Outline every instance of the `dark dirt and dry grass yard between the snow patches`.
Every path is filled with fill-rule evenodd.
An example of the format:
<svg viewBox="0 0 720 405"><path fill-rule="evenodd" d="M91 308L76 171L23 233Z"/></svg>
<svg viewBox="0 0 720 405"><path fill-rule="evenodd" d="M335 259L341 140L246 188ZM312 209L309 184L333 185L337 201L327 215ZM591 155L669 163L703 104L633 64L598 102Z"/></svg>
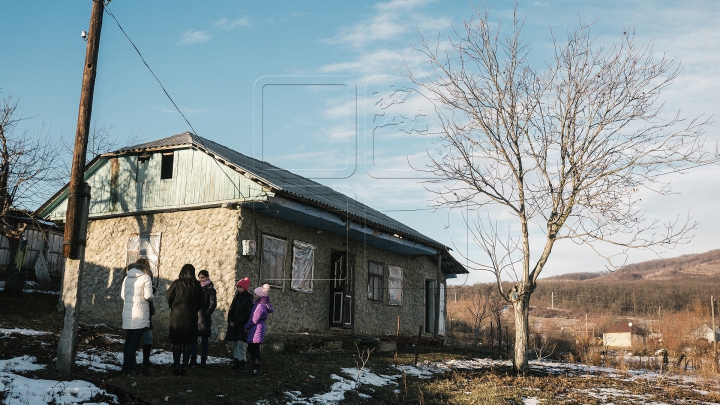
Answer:
<svg viewBox="0 0 720 405"><path fill-rule="evenodd" d="M26 293L10 298L0 293L0 328L34 329L52 334L4 337L0 339L0 359L21 355L37 357L48 364L45 370L24 373L29 378L53 380L79 379L92 382L121 404L286 404L328 403L312 400L315 394L330 392L337 382L334 375L342 368L357 368L354 350L310 350L291 353L263 352L263 374L251 377L229 369L228 364L191 368L186 376L173 376L171 366L138 366L133 374L119 371L97 372L77 367L72 375L61 375L52 367L62 315L55 309L57 295ZM123 331L103 325L81 325L79 352L122 352ZM165 336L155 336L154 348L170 350ZM397 362L412 365L415 348L401 346ZM211 344L210 355L230 358L223 342ZM422 347L420 362L472 360L487 357L467 349ZM394 353L373 352L365 367L377 375L398 374L392 366ZM493 364L490 361L490 364ZM497 363L495 363L497 364ZM515 375L509 366L485 368L456 367L429 379L406 376L397 384L361 385L345 393L340 404L712 404L720 403L717 386L712 383L674 383L672 379L633 380L625 376L557 374L534 369ZM288 392L303 401L293 402ZM96 398L100 401L103 398ZM534 401L534 402L533 402ZM0 402L1 398L0 398Z"/></svg>

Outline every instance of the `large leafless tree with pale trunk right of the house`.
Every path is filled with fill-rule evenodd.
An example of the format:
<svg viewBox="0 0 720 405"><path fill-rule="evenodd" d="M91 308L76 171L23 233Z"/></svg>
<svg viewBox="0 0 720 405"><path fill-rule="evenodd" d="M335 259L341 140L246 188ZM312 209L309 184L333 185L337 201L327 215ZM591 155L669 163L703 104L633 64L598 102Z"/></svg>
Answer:
<svg viewBox="0 0 720 405"><path fill-rule="evenodd" d="M671 193L663 175L717 160L703 148L706 119L662 114L661 93L680 69L652 44L625 31L619 44L601 46L581 22L553 41L554 57L540 71L517 11L511 22L504 35L479 10L445 49L423 38L416 49L432 72L407 75L434 102L440 126L442 150L429 152L427 168L437 180L427 187L438 207L476 214L466 221L486 257L472 262L494 273L513 305L514 365L524 371L530 297L555 242L596 251L600 242L620 250L687 242L695 224L647 219L638 191ZM512 220L501 226L480 214L487 204ZM509 289L501 283L508 277Z"/></svg>

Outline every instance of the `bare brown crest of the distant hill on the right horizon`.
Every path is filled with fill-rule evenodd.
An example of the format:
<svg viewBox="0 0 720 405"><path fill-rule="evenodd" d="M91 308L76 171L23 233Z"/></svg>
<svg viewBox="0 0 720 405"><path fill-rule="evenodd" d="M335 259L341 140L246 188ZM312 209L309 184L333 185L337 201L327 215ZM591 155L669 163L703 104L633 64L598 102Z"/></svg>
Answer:
<svg viewBox="0 0 720 405"><path fill-rule="evenodd" d="M609 272L579 272L546 277L549 281L633 281L633 280L673 280L688 278L702 279L720 276L720 249L705 253L696 253L669 259L649 260L628 264Z"/></svg>

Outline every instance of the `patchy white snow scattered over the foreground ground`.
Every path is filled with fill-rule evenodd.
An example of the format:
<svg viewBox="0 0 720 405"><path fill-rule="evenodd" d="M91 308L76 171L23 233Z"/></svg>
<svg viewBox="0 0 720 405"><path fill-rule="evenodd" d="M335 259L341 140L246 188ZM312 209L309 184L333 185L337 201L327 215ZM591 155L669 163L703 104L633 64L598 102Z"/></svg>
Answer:
<svg viewBox="0 0 720 405"><path fill-rule="evenodd" d="M0 288L2 286L0 285ZM28 291L28 290L26 290ZM21 328L0 328L0 340L22 339L23 336L50 335L50 332ZM102 339L117 347L123 339L116 334L103 334ZM42 343L47 344L47 343ZM7 355L7 354L6 354ZM54 404L117 404L118 398L106 392L101 387L82 380L58 381L31 378L33 371L42 370L51 365L38 364L35 357L23 353L13 353L13 358L0 360L0 393L4 396L4 403L8 405L40 405ZM5 357L5 356L3 356ZM122 353L109 350L88 349L77 354L77 365L87 370L102 374L109 371L119 371L122 365ZM142 361L142 353L137 353L138 362ZM155 349L151 361L154 364L172 364L172 353ZM227 364L227 358L209 357L209 364ZM348 392L353 392L361 398L372 400L375 388L391 387L401 394L404 376L417 379L429 379L448 372L463 371L492 371L511 367L509 361L491 359L445 360L420 364L416 367L399 365L396 368L373 370L365 367L360 370L354 367L340 368L330 378L334 381L327 392L303 394L300 391L288 390L284 392L286 403L297 405L331 405L345 399ZM711 398L718 398L717 381L707 381L698 376L667 375L648 370L617 370L608 367L585 366L574 363L554 361L531 362L531 369L543 374L570 376L581 380L593 380L598 377L612 379L623 384L586 385L572 387L576 395L603 404L656 404L663 405L675 402L658 401L652 395L632 391L629 385L645 384L652 387L671 386L673 389L682 389L690 392L695 399L683 400L687 404L713 404ZM319 378L326 376L312 376ZM576 380L577 381L577 380ZM627 384L630 383L630 384ZM581 384L582 385L582 384ZM526 405L545 403L537 388L520 387L523 395L522 401ZM0 396L0 398L2 398ZM547 396L545 396L547 397ZM554 397L562 401L564 398ZM707 398L707 400L703 400ZM258 405L269 404L269 401L259 401Z"/></svg>

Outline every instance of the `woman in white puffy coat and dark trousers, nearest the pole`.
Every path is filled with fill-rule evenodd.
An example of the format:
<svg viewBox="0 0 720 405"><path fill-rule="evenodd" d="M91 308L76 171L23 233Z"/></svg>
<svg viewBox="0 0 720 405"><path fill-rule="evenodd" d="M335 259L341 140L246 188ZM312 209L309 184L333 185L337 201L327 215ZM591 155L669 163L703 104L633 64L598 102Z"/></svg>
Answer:
<svg viewBox="0 0 720 405"><path fill-rule="evenodd" d="M152 280L147 266L133 263L127 267L127 276L123 280L120 296L123 299L123 329L125 329L125 349L123 351L123 371L135 369L135 350L137 350L143 331L150 327L150 301L153 300Z"/></svg>

